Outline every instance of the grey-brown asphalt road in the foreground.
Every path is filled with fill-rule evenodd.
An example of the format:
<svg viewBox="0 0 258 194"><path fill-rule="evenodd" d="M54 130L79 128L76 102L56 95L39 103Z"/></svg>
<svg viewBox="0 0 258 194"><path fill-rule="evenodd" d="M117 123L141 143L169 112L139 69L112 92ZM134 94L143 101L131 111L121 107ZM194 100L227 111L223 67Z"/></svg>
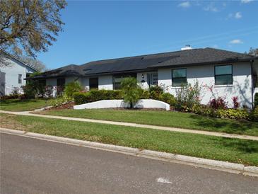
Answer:
<svg viewBox="0 0 258 194"><path fill-rule="evenodd" d="M258 178L1 133L0 193L258 193Z"/></svg>

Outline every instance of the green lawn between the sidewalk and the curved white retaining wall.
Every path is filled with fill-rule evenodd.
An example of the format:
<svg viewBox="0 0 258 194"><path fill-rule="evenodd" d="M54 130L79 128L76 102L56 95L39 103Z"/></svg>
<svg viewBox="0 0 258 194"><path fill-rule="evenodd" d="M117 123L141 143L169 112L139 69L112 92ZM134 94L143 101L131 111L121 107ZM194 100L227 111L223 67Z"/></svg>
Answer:
<svg viewBox="0 0 258 194"><path fill-rule="evenodd" d="M61 115L74 118L91 118L135 122L147 125L180 127L192 130L227 132L258 136L258 122L238 121L221 118L209 118L194 113L179 113L158 110L45 110L41 114Z"/></svg>

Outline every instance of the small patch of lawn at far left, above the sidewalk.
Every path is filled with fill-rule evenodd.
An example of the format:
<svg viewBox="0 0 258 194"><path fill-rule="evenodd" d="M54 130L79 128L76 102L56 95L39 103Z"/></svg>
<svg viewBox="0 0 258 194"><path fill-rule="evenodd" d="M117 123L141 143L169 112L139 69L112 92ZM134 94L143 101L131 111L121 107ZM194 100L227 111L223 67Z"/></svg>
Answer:
<svg viewBox="0 0 258 194"><path fill-rule="evenodd" d="M35 110L49 105L44 99L9 99L0 101L0 110L25 111Z"/></svg>

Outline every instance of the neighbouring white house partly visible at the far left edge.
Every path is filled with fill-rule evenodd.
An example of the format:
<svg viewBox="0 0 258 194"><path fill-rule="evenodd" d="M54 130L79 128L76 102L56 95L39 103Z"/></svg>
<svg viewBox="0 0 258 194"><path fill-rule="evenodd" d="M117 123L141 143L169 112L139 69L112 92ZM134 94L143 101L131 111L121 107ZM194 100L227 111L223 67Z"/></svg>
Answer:
<svg viewBox="0 0 258 194"><path fill-rule="evenodd" d="M25 78L34 72L37 72L37 69L1 50L0 96L10 95L13 90L21 93L20 87L26 84Z"/></svg>

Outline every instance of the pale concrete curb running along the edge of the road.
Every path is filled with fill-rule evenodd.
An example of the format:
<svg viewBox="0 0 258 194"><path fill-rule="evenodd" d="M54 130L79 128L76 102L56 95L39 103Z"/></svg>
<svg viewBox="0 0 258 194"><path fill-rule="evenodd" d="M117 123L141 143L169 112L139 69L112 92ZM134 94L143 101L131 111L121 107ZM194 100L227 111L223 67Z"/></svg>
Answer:
<svg viewBox="0 0 258 194"><path fill-rule="evenodd" d="M191 166L202 167L206 169L215 169L218 171L226 171L229 173L238 173L248 176L258 177L258 167L257 166L244 166L242 164L235 164L226 161L216 161L211 159L201 159L192 156L184 156L180 154L170 154L165 152L156 152L148 149L137 149L131 147L122 147L112 144L102 144L98 142L89 142L78 139L71 139L66 137L57 137L52 135L43 135L34 132L24 132L20 130L10 130L0 127L0 132L20 135L23 137L30 137L36 139L44 139L52 142L59 142L64 144L73 144L76 146L90 147L93 149L102 149L109 152L118 152L122 154L129 154L133 156L141 156L148 159L156 159L161 161L168 161L177 164L187 164Z"/></svg>

